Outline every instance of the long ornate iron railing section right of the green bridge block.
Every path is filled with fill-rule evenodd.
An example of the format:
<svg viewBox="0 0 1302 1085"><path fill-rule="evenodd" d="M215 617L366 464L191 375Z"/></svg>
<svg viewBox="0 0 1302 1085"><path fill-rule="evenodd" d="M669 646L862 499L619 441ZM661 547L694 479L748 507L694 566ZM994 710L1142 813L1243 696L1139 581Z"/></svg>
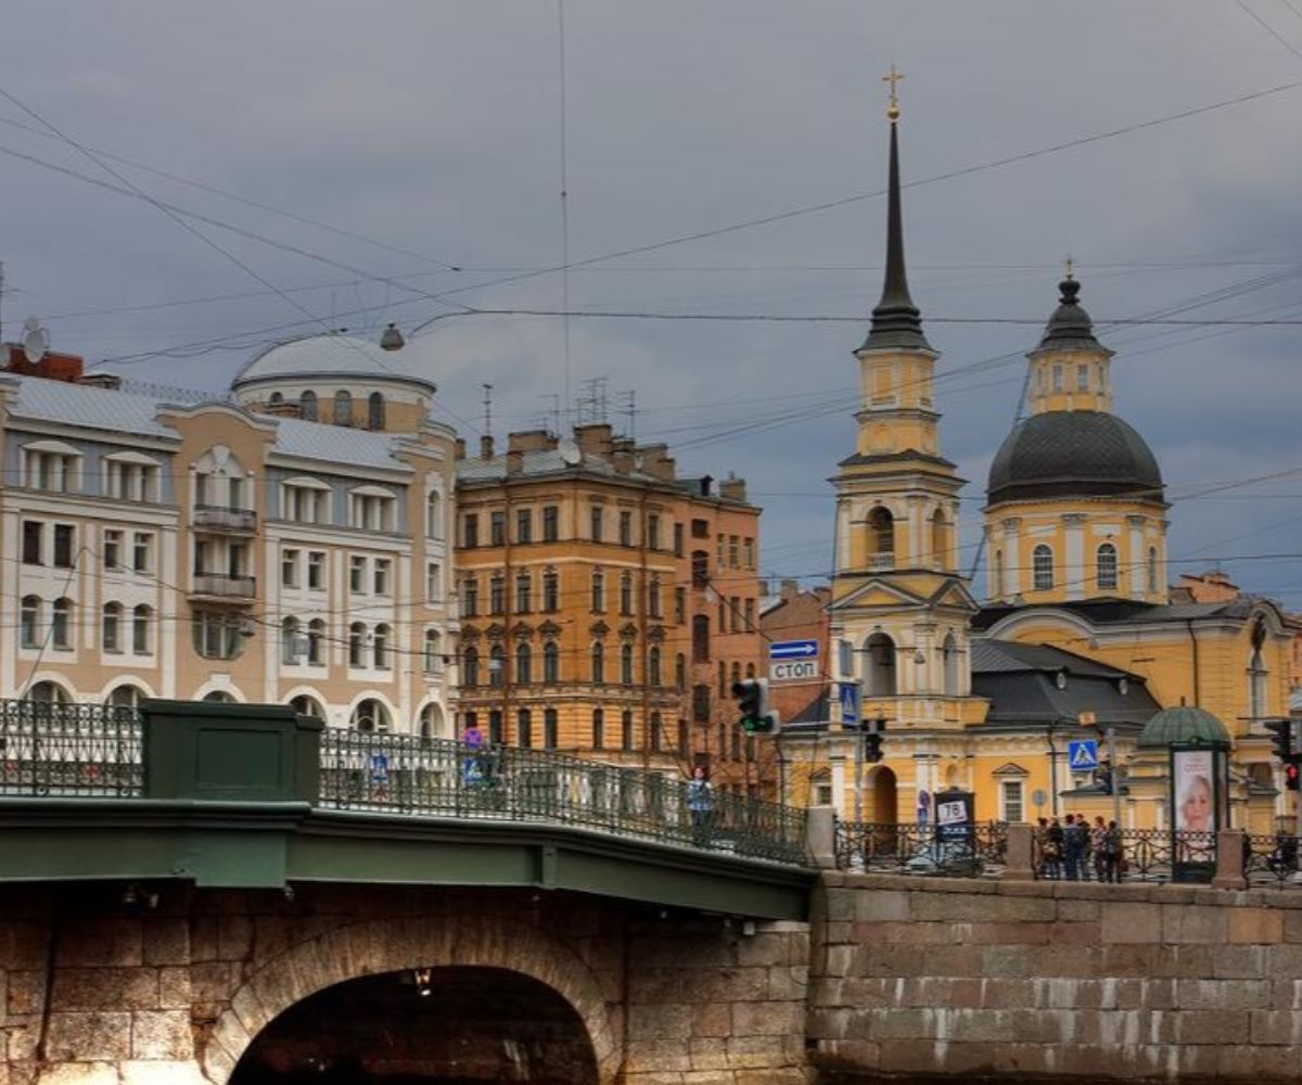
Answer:
<svg viewBox="0 0 1302 1085"><path fill-rule="evenodd" d="M682 780L518 746L327 728L320 801L345 810L549 822L805 862L801 809L715 792L708 810L693 810Z"/></svg>

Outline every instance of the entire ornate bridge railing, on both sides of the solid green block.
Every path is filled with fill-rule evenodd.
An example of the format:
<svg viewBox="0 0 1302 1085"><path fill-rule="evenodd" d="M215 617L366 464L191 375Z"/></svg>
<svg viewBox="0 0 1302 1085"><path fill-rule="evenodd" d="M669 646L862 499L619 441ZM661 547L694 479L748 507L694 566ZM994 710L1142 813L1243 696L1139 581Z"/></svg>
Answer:
<svg viewBox="0 0 1302 1085"><path fill-rule="evenodd" d="M151 714L152 732L145 720ZM202 791L202 766L194 766L199 745L187 748L178 728L193 723L198 733L216 724L202 746L203 755L211 758L214 739L236 741L217 716L249 723L241 715L255 714L266 722L254 722L253 729L292 735L286 737L290 746L319 744L319 778L309 793L293 795L316 808L572 826L720 854L806 861L806 814L797 808L716 792L710 810L694 813L686 782L661 774L517 746L477 748L339 728L296 732L290 710L267 706L160 701L135 711L0 701L0 796L172 797L176 772L167 782L151 783L146 771L146 765L167 765L169 759L173 766L186 766L185 772L198 774L182 788ZM159 755L151 755L151 749ZM228 750L216 761L228 772L232 759L240 763L241 755ZM307 755L318 757L315 752ZM229 797L232 782L227 778L224 787L223 795Z"/></svg>

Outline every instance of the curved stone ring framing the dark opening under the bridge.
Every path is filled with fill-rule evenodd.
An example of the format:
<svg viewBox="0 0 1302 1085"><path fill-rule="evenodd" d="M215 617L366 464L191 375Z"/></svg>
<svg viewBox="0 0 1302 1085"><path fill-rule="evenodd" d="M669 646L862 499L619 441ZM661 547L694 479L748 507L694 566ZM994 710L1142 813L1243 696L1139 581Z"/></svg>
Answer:
<svg viewBox="0 0 1302 1085"><path fill-rule="evenodd" d="M551 935L491 916L372 920L297 943L267 960L234 993L199 1051L199 1065L214 1085L227 1085L254 1038L296 1003L349 979L443 966L500 968L551 987L583 1021L602 1085L615 1080L621 1051L592 970Z"/></svg>

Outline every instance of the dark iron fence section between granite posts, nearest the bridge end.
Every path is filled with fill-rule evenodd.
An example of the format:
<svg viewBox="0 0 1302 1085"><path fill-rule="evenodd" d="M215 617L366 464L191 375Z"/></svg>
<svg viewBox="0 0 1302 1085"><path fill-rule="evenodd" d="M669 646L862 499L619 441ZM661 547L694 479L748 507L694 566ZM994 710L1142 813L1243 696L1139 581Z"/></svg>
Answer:
<svg viewBox="0 0 1302 1085"><path fill-rule="evenodd" d="M1008 826L988 822L969 836L936 832L930 823L836 822L841 870L973 877L1004 865Z"/></svg>

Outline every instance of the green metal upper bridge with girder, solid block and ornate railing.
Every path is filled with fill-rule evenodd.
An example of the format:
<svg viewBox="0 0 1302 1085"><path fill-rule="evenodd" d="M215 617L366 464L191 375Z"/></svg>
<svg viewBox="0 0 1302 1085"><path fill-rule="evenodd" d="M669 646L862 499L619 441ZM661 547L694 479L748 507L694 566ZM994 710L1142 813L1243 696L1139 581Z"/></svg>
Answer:
<svg viewBox="0 0 1302 1085"><path fill-rule="evenodd" d="M797 920L803 810L272 705L0 703L0 881L534 887Z"/></svg>

